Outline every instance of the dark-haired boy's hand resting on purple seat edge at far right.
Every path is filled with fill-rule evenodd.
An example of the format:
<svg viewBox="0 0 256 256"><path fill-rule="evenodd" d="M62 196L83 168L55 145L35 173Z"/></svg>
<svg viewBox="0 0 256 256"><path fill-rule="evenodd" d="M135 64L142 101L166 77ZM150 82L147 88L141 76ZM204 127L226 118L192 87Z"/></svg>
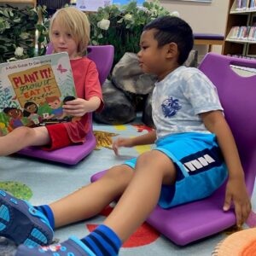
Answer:
<svg viewBox="0 0 256 256"><path fill-rule="evenodd" d="M243 179L230 178L228 180L223 208L224 211L230 210L232 202L236 212L236 224L238 227L241 227L241 224L247 220L252 209L251 201Z"/></svg>

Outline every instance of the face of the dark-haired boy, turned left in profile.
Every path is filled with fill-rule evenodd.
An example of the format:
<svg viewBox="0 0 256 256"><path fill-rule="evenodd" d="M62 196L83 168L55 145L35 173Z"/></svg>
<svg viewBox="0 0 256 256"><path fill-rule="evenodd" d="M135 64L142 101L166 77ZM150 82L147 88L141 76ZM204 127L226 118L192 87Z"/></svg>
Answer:
<svg viewBox="0 0 256 256"><path fill-rule="evenodd" d="M158 79L163 79L166 73L170 72L170 67L172 69L168 63L171 56L170 45L158 47L158 42L154 39L154 32L154 29L150 29L142 33L141 50L137 56L144 73L152 73L157 75Z"/></svg>

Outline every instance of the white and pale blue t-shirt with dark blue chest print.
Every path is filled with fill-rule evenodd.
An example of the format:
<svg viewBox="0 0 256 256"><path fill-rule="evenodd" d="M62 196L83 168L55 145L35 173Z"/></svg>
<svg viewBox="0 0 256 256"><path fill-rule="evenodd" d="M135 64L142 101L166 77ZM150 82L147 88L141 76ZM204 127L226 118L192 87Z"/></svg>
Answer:
<svg viewBox="0 0 256 256"><path fill-rule="evenodd" d="M152 116L157 137L173 133L209 132L199 113L223 110L216 87L195 67L178 67L155 83Z"/></svg>

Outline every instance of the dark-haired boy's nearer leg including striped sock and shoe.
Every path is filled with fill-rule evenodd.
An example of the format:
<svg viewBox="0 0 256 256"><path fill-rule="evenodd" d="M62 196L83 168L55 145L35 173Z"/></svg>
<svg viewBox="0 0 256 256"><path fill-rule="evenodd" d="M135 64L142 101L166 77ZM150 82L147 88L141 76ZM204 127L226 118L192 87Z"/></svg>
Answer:
<svg viewBox="0 0 256 256"><path fill-rule="evenodd" d="M61 250L64 250L64 248L68 248L69 253L75 253L79 256L117 255L121 243L127 240L137 230L139 225L143 223L149 213L154 209L160 197L162 183L172 184L175 182L175 178L175 166L166 154L156 150L143 154L137 160L137 166L135 173L132 175L131 182L120 197L113 212L106 218L104 224L98 226L96 230L82 240L71 237L56 247L38 247L32 249L20 246L16 256L39 256L43 250L45 256L54 255L53 252L56 249L60 255L66 255L65 253L61 253ZM88 193L89 190L87 190L86 194Z"/></svg>

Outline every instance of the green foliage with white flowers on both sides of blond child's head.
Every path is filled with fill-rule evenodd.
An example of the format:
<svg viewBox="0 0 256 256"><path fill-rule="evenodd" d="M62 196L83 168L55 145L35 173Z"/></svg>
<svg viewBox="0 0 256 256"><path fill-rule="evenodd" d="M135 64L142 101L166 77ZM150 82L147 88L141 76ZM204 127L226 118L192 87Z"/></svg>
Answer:
<svg viewBox="0 0 256 256"><path fill-rule="evenodd" d="M90 44L112 44L115 49L113 65L125 52L137 53L140 36L150 20L162 15L172 15L160 6L159 1L143 3L138 7L133 1L123 6L110 5L90 13ZM42 21L38 24L39 16ZM38 30L38 45L35 32ZM0 62L44 55L49 42L49 17L46 8L17 9L0 7ZM20 55L20 48L23 53ZM16 55L15 55L16 51Z"/></svg>

